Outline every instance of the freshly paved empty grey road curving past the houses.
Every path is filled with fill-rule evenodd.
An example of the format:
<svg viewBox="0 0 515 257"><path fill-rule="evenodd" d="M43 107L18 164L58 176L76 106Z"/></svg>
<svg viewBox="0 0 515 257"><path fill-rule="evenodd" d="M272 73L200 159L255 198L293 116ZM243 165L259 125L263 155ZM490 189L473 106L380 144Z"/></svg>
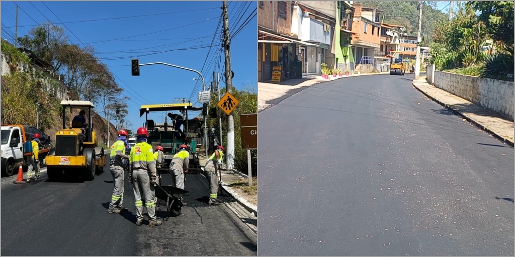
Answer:
<svg viewBox="0 0 515 257"><path fill-rule="evenodd" d="M413 78L317 84L260 113L259 255L513 256L513 149Z"/></svg>

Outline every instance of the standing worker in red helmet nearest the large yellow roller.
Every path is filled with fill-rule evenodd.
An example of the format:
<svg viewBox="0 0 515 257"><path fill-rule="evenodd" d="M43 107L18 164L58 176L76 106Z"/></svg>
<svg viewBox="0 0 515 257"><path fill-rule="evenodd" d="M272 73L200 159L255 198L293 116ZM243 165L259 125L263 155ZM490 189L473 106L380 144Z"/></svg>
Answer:
<svg viewBox="0 0 515 257"><path fill-rule="evenodd" d="M126 152L126 147L129 145L129 142L127 141L128 137L129 135L127 134L127 131L118 131L118 138L116 139L116 142L111 145L110 170L111 175L113 175L114 190L113 195L111 196L109 210L107 211L108 213L127 211L126 208L123 208L122 204L124 200L124 159L129 159Z"/></svg>

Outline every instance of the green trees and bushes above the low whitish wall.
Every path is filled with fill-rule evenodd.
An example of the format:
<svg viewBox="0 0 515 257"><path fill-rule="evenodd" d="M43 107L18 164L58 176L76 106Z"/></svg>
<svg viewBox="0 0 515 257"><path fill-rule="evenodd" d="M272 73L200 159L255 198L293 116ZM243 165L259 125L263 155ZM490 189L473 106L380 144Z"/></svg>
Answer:
<svg viewBox="0 0 515 257"><path fill-rule="evenodd" d="M454 19L437 23L433 40L436 69L513 81L513 2L458 4ZM483 50L487 40L494 53Z"/></svg>

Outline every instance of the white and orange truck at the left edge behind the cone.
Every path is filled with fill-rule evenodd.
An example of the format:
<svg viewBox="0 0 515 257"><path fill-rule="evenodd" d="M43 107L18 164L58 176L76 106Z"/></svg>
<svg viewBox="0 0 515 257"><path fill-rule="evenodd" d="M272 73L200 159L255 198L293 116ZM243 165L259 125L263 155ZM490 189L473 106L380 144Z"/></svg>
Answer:
<svg viewBox="0 0 515 257"><path fill-rule="evenodd" d="M26 132L26 127L31 126L2 124L2 135L0 136L2 138L2 176L12 176L18 171L20 164L24 171L28 168L27 160L31 157L32 152L26 153L27 149L24 144L30 143L34 134ZM41 135L44 134L41 133ZM38 154L40 163L43 163L45 156L51 150L52 145L49 144L49 140L40 141Z"/></svg>

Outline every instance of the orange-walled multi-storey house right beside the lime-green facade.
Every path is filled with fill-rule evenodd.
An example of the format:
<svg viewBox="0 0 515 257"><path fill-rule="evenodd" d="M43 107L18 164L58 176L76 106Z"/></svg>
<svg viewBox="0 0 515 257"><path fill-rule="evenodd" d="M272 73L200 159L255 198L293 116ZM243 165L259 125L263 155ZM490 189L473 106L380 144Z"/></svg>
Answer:
<svg viewBox="0 0 515 257"><path fill-rule="evenodd" d="M362 73L374 72L374 50L381 47L381 24L379 17L384 11L354 4L351 45L356 69Z"/></svg>

